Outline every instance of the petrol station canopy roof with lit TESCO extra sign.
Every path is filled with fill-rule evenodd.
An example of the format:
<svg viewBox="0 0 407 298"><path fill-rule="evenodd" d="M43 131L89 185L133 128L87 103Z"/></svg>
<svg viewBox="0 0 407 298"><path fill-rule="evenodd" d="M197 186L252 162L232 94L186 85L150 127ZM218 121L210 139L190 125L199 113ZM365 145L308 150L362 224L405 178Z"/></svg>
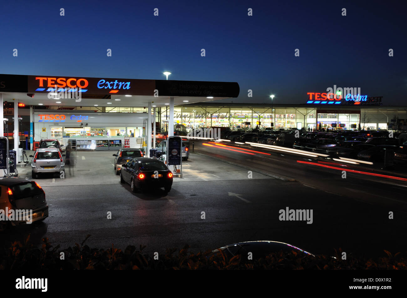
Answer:
<svg viewBox="0 0 407 298"><path fill-rule="evenodd" d="M61 92L68 87L81 88L81 101L49 98L50 92ZM189 104L235 98L239 91L239 84L234 82L0 74L3 100L14 98L34 106L39 103L45 106L107 106L109 100L120 99L114 101L115 107L147 107L149 102L165 107L169 98L174 98L174 105Z"/></svg>

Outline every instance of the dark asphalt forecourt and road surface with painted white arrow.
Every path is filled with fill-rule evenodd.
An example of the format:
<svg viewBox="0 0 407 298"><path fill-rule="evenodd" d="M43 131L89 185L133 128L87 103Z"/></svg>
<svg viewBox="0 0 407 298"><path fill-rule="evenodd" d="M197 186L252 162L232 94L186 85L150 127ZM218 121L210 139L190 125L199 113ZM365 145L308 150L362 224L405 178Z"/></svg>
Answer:
<svg viewBox="0 0 407 298"><path fill-rule="evenodd" d="M221 150L197 151L225 155ZM406 251L403 182L354 173L341 178L338 170L278 154L273 163L257 164L245 162L247 154L228 152L241 166L204 154L190 155L183 163L184 178L174 179L167 195L162 189L133 194L129 185L120 184L112 152L78 152L76 166L66 170L65 179L36 180L46 192L50 217L13 227L1 241L22 241L31 233L34 244L48 237L66 248L90 234L86 244L91 247L143 244L147 253L185 244L197 252L251 240L283 241L314 254L333 254L334 248L371 257L382 256L384 249ZM295 176L295 181L273 178L284 168L284 177ZM29 167L19 172L31 176ZM287 207L312 210L312 223L280 220L280 210ZM112 219L107 219L108 212Z"/></svg>

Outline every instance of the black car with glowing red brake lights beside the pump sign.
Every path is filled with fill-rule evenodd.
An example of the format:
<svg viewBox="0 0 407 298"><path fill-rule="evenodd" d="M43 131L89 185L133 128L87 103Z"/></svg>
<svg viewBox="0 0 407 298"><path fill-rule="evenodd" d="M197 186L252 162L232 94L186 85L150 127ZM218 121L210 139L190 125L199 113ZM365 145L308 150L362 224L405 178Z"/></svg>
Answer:
<svg viewBox="0 0 407 298"><path fill-rule="evenodd" d="M155 157L140 157L130 159L120 170L120 182L129 183L131 191L137 189L157 189L164 187L171 190L173 173Z"/></svg>

